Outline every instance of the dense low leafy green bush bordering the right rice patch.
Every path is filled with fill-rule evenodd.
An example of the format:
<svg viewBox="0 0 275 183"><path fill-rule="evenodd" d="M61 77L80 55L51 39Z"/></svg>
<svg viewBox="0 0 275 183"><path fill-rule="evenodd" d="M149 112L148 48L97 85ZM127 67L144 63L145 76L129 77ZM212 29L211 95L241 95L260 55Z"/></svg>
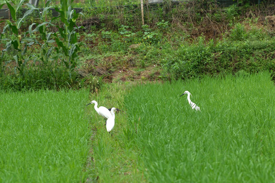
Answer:
<svg viewBox="0 0 275 183"><path fill-rule="evenodd" d="M274 40L265 42L217 42L183 45L161 65L172 79L187 79L219 73L275 72ZM265 56L263 56L263 53Z"/></svg>

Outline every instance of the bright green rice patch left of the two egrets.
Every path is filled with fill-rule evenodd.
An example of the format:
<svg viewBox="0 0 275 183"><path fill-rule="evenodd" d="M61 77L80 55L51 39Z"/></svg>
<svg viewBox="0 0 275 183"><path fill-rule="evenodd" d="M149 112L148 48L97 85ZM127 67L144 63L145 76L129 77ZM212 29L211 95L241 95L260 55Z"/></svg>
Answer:
<svg viewBox="0 0 275 183"><path fill-rule="evenodd" d="M0 91L0 182L83 182L89 93Z"/></svg>

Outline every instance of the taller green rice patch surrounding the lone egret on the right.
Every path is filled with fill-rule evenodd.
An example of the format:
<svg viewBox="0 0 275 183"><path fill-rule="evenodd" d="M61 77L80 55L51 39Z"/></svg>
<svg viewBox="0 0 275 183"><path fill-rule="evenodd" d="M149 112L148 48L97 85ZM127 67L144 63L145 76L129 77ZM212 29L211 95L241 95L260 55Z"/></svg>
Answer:
<svg viewBox="0 0 275 183"><path fill-rule="evenodd" d="M201 112L179 97L185 90ZM124 102L124 138L140 151L149 182L275 181L269 73L148 83Z"/></svg>

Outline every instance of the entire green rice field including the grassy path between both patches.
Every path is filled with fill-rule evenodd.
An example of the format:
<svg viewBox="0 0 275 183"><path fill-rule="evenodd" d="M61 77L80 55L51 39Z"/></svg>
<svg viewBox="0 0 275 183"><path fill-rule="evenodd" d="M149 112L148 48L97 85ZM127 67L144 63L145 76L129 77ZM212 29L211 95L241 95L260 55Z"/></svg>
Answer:
<svg viewBox="0 0 275 183"><path fill-rule="evenodd" d="M201 108L193 111L186 96ZM1 92L0 182L274 182L269 73ZM117 107L116 124L86 104Z"/></svg>

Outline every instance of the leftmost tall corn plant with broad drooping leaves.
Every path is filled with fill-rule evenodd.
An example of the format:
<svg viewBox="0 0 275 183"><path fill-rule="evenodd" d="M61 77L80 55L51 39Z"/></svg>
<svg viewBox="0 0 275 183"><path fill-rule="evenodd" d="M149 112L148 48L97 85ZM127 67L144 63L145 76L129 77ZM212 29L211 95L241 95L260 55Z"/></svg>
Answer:
<svg viewBox="0 0 275 183"><path fill-rule="evenodd" d="M13 21L7 21L7 25L3 28L3 32L1 33L1 36L0 36L0 40L6 42L6 48L2 52L2 56L5 51L9 51L12 47L14 48L15 54L13 55L13 59L16 62L16 68L19 70L21 76L24 73L23 70L26 62L30 59L30 56L29 57L25 56L26 50L29 46L35 43L32 38L26 35L21 35L19 33L19 29L22 25L22 22L26 19L26 17L28 17L34 11L32 9L28 10L24 13L23 17L18 18L16 14L19 13L23 2L24 0L21 0L19 3L16 3L15 1L12 0L12 3L14 4L14 6L12 6L10 3L6 1L6 4L10 10ZM2 39L7 29L11 29L11 32L13 33L14 36L10 38Z"/></svg>

